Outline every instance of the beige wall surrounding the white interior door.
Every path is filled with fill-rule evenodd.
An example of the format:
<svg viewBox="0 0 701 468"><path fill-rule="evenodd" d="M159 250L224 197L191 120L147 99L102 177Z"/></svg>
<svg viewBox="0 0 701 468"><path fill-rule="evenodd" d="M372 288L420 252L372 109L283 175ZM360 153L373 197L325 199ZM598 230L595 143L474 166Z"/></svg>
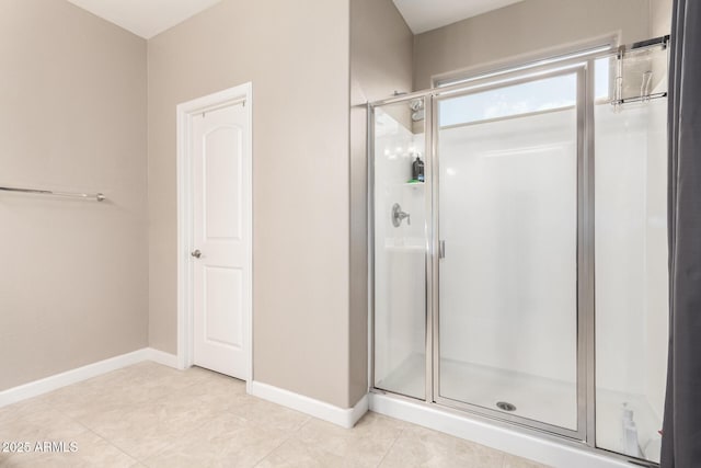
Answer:
<svg viewBox="0 0 701 468"><path fill-rule="evenodd" d="M223 0L148 55L151 345L176 351L175 106L252 81L254 379L348 407L348 1Z"/></svg>

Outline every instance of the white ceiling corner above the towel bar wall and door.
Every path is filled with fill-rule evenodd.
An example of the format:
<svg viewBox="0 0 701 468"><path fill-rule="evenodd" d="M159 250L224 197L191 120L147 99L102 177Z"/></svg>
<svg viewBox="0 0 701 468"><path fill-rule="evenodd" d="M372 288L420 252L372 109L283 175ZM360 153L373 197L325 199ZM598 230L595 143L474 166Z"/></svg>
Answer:
<svg viewBox="0 0 701 468"><path fill-rule="evenodd" d="M68 0L146 39L220 0Z"/></svg>

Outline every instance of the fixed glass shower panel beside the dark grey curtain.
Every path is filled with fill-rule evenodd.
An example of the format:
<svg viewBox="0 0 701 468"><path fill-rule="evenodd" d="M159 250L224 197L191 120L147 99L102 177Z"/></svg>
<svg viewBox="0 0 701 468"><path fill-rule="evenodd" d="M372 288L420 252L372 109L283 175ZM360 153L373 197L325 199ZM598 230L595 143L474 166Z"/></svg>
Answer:
<svg viewBox="0 0 701 468"><path fill-rule="evenodd" d="M597 105L596 442L659 460L667 368L667 105Z"/></svg>

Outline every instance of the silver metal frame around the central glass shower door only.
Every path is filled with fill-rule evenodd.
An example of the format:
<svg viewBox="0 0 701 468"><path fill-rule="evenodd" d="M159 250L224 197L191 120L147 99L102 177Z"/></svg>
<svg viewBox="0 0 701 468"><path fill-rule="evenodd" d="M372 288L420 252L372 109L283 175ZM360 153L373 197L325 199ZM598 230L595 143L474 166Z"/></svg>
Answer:
<svg viewBox="0 0 701 468"><path fill-rule="evenodd" d="M560 436L577 440L585 442L587 441L587 430L589 427L589 414L588 414L588 381L589 378L589 362L593 361L593 356L589 355L588 342L589 339L589 327L588 323L591 321L594 317L594 294L593 294L593 275L590 275L589 265L594 259L594 250L590 249L588 242L588 231L589 231L589 220L591 218L591 214L589 210L593 209L593 204L588 203L588 195L593 187L593 180L588 176L593 171L589 170L589 165L593 161L590 158L591 146L589 144L588 134L590 133L590 128L587 125L588 121L588 83L590 83L590 79L587 79L587 67L588 64L585 61L579 61L578 64L574 64L571 66L560 66L560 67L550 67L551 69L544 69L540 72L530 72L526 73L516 73L514 76L503 78L497 80L497 82L486 83L482 85L468 85L463 87L461 90L455 90L452 88L444 91L443 89L436 90L435 93L432 94L430 105L427 107L432 109L432 121L430 121L430 159L427 161L427 167L430 167L430 173L427 174L426 181L430 184L427 186L427 193L430 193L430 204L432 204L432 246L427 250L427 278L429 278L429 286L427 290L430 294L427 297L430 299L427 301L427 317L430 321L430 327L427 328L430 330L430 333L427 333L430 340L427 340L427 356L432 356L430 366L427 366L427 376L426 381L433 381L433 388L430 392L427 395L433 395L433 402L438 403L440 406L455 408L458 410L475 413L482 416L496 419L506 421L512 424L517 424L520 426L535 429L538 431L543 431L547 433L556 434ZM552 68L555 68L554 70ZM449 399L440 396L440 349L439 349L439 321L440 321L440 304L439 304L439 290L440 290L440 278L439 278L439 255L436 254L439 249L440 242L440 231L439 231L439 153L438 153L438 135L440 128L438 126L438 103L444 100L466 96L471 94L481 93L484 91L490 91L499 88L513 87L525 84L547 78L555 78L562 76L575 75L576 76L576 158L577 158L577 214L576 214L576 232L577 232L577 301L576 301L576 388L577 388L577 429L570 430L566 427L560 427L553 424L544 423L541 421L527 419L524 416L518 416L515 414L508 414L503 411L492 410L490 408L484 408L481 406L472 404L469 402L462 402L453 399ZM430 353L428 351L430 350ZM428 376L430 375L430 378Z"/></svg>

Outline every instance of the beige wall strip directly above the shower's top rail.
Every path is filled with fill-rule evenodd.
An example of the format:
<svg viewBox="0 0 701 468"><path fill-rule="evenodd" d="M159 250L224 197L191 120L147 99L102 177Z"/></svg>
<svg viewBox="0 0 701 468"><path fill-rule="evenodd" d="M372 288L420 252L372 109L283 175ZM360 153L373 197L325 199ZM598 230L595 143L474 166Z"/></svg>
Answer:
<svg viewBox="0 0 701 468"><path fill-rule="evenodd" d="M414 39L414 90L433 76L532 56L610 34L621 43L650 38L650 1L526 0L418 34Z"/></svg>

